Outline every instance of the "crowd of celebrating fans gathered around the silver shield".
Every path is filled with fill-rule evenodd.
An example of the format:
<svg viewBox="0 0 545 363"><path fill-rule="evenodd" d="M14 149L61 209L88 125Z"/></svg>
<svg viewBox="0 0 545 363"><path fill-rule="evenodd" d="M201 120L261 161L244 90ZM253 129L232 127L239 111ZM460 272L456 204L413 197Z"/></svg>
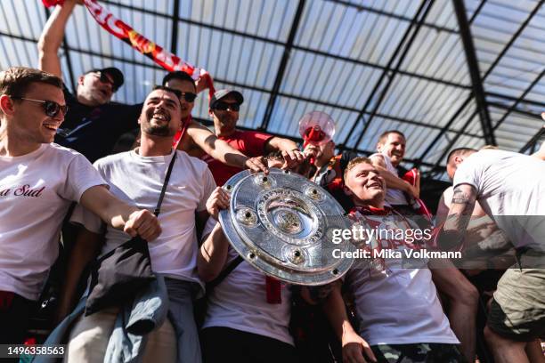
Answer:
<svg viewBox="0 0 545 363"><path fill-rule="evenodd" d="M418 171L402 168L408 140L400 131L382 133L370 157L337 155L333 141L299 149L237 129L244 97L234 90L211 98L210 131L191 119L200 90L180 71L141 104L111 101L124 84L111 67L80 76L70 93L57 53L75 4L66 1L47 21L38 69L0 73L0 343L30 334L61 241L66 261L46 343L66 343L68 361L474 362L477 351L482 360L545 361L545 147L533 156L452 150L452 187L432 216L419 198ZM134 147L112 154L136 128ZM435 227L433 241L384 238L376 248L455 249L465 262L407 267L378 258L312 288L265 276L217 221L229 207L225 181L271 167L329 190L352 222ZM135 236L148 241L157 281L130 301L86 313L87 266ZM197 309L203 301L206 309ZM297 334L295 305L328 321L333 336L313 342L314 355L300 349L312 334ZM134 321L150 326L146 334Z"/></svg>

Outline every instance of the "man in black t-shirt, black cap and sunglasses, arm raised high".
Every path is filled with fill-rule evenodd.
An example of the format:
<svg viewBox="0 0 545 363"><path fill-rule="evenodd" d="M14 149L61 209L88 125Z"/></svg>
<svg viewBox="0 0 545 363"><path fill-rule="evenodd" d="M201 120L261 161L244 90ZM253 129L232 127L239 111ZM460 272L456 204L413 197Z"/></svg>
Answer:
<svg viewBox="0 0 545 363"><path fill-rule="evenodd" d="M64 37L64 28L76 0L67 0L57 6L45 24L38 42L38 68L62 77L58 52ZM69 106L62 128L55 142L75 149L94 162L112 152L123 133L137 127L142 103L126 105L111 102L111 97L123 85L123 73L114 67L91 69L77 78L76 94L64 89Z"/></svg>

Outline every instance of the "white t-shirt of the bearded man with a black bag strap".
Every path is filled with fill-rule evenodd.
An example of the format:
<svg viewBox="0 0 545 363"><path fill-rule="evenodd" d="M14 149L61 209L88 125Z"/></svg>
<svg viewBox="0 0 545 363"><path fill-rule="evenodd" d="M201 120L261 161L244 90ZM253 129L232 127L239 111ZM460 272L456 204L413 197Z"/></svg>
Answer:
<svg viewBox="0 0 545 363"><path fill-rule="evenodd" d="M94 166L108 181L116 197L130 205L153 211L173 155L142 157L134 151L127 151L103 157ZM151 268L155 272L203 286L197 275L195 212L206 209L207 198L215 188L216 182L205 162L177 151L159 214L162 232L159 238L148 244ZM85 229L95 233L102 232L102 222L85 208L77 207L71 221L83 224ZM122 230L108 227L105 238L102 254L125 243L130 236Z"/></svg>

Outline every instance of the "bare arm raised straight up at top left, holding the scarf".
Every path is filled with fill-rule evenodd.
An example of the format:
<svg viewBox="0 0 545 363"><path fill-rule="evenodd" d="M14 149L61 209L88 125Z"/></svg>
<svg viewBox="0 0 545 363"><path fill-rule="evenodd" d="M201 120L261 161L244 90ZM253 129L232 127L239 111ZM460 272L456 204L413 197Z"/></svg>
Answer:
<svg viewBox="0 0 545 363"><path fill-rule="evenodd" d="M38 40L38 69L57 77L62 77L59 48L64 38L64 28L76 4L76 0L66 0L62 6L55 7Z"/></svg>

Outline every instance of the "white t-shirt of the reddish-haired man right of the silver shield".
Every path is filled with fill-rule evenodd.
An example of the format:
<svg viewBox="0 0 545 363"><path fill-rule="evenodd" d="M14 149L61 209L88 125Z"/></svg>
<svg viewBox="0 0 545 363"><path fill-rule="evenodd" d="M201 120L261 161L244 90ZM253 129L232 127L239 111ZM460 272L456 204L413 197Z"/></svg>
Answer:
<svg viewBox="0 0 545 363"><path fill-rule="evenodd" d="M381 224L386 221L384 216L366 217L368 221L377 222L379 230L391 228ZM387 220L393 223L391 218ZM380 240L380 243L383 249L396 251L410 245L398 240ZM363 339L371 345L458 344L443 313L430 270L403 268L399 260L386 259L384 263L385 269L381 271L354 264L346 273Z"/></svg>

